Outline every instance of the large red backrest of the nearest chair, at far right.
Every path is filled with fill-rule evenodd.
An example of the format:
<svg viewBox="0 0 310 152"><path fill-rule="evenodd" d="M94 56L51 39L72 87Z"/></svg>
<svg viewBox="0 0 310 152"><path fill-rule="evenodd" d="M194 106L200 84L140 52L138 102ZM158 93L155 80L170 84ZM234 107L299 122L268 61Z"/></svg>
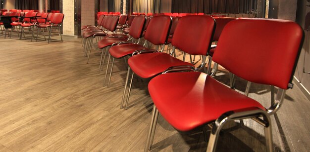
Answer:
<svg viewBox="0 0 310 152"><path fill-rule="evenodd" d="M248 81L287 89L303 35L292 21L234 20L225 26L212 60Z"/></svg>

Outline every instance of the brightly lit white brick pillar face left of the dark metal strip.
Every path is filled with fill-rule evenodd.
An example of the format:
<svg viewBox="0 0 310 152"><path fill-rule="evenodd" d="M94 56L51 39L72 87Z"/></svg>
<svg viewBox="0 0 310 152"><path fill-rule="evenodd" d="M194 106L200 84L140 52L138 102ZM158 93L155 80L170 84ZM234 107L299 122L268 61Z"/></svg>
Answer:
<svg viewBox="0 0 310 152"><path fill-rule="evenodd" d="M74 36L74 0L62 1L63 35Z"/></svg>

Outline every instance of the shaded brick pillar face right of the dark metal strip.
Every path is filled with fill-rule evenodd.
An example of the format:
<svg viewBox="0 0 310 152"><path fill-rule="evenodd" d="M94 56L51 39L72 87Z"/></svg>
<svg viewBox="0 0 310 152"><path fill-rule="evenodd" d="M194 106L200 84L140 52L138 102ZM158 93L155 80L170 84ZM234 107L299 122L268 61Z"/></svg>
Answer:
<svg viewBox="0 0 310 152"><path fill-rule="evenodd" d="M81 1L81 23L84 25L95 25L95 0Z"/></svg>

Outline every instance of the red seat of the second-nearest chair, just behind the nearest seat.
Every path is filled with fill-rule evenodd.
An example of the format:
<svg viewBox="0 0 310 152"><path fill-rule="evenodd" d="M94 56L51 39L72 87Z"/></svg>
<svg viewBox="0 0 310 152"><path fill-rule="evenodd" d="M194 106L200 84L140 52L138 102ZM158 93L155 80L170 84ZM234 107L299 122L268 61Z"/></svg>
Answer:
<svg viewBox="0 0 310 152"><path fill-rule="evenodd" d="M169 67L193 64L183 62L167 53L146 53L134 55L128 59L131 70L143 78L156 76Z"/></svg>

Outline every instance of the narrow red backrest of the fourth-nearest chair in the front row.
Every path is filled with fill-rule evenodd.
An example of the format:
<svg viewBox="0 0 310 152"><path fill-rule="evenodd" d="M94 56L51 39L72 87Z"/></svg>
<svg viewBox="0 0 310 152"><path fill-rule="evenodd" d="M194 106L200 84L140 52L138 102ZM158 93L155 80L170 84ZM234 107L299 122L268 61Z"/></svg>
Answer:
<svg viewBox="0 0 310 152"><path fill-rule="evenodd" d="M129 30L129 35L135 39L141 38L145 22L146 22L145 16L135 17L135 19L132 21L131 28Z"/></svg>

